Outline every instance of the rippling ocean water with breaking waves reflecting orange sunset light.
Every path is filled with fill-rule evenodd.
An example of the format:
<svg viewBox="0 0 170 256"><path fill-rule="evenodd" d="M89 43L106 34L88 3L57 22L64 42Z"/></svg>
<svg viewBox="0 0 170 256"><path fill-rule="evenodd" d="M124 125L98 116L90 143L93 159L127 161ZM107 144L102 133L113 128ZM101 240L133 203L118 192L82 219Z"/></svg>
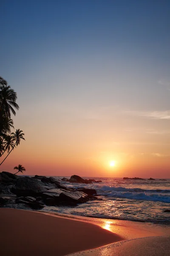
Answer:
<svg viewBox="0 0 170 256"><path fill-rule="evenodd" d="M62 177L54 176L61 180ZM67 177L70 178L70 177ZM79 184L62 181L72 188L96 189L102 200L88 201L77 207L48 207L44 211L95 218L146 221L170 224L170 179L123 180L122 178L83 177L102 183Z"/></svg>

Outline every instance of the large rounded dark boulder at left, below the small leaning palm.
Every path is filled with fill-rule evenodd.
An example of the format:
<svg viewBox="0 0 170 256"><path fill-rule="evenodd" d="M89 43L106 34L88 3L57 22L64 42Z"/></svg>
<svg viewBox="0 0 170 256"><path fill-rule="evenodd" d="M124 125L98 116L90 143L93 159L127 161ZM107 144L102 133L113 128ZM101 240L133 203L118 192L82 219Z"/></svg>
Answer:
<svg viewBox="0 0 170 256"><path fill-rule="evenodd" d="M20 177L17 179L15 187L11 189L11 192L17 196L38 196L47 190L43 183L37 179Z"/></svg>

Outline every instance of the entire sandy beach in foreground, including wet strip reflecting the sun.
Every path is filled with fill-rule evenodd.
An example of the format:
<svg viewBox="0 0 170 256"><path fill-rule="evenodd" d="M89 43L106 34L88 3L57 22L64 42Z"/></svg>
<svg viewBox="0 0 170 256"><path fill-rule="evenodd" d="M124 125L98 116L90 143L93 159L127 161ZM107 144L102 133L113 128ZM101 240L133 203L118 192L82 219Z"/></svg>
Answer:
<svg viewBox="0 0 170 256"><path fill-rule="evenodd" d="M170 229L163 225L7 208L0 219L2 256L169 255Z"/></svg>

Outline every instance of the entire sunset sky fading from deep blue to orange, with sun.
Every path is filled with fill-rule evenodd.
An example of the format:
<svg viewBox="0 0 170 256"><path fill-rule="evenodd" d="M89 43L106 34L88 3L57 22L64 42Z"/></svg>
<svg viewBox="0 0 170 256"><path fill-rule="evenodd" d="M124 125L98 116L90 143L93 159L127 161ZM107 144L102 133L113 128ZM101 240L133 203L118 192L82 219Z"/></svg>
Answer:
<svg viewBox="0 0 170 256"><path fill-rule="evenodd" d="M27 175L170 178L170 1L1 0Z"/></svg>

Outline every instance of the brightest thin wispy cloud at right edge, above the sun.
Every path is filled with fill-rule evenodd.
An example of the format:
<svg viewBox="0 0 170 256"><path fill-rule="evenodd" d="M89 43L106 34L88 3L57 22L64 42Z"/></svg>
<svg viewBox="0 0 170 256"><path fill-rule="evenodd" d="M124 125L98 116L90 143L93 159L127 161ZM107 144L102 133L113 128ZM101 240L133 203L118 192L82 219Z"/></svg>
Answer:
<svg viewBox="0 0 170 256"><path fill-rule="evenodd" d="M133 116L144 116L150 119L170 119L170 110L165 111L125 111Z"/></svg>

